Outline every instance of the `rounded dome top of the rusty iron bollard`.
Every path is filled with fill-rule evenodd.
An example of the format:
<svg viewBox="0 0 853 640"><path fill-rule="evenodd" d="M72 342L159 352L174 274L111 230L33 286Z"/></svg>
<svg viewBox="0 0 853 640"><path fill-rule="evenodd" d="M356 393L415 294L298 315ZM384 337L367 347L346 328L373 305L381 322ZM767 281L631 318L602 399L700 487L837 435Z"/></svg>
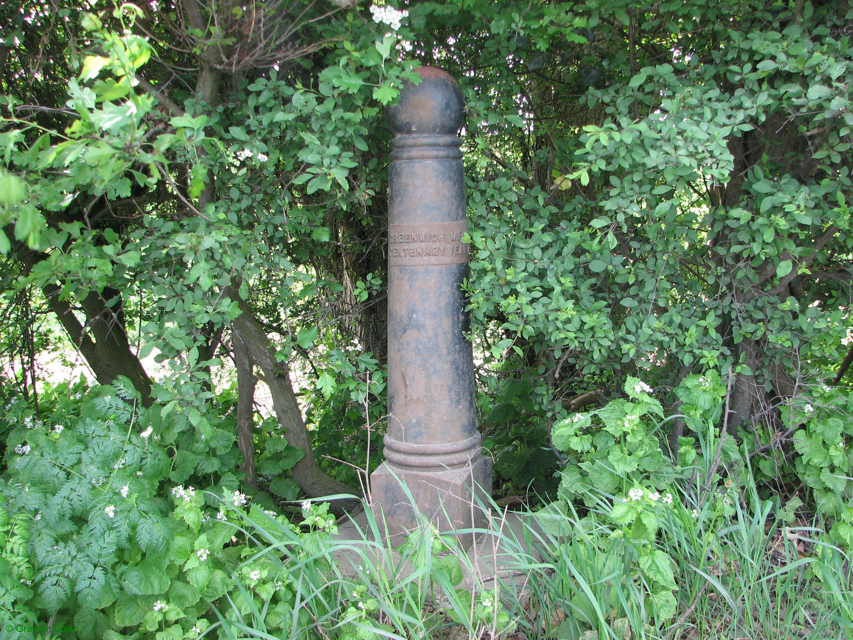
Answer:
<svg viewBox="0 0 853 640"><path fill-rule="evenodd" d="M406 84L400 100L388 108L397 135L453 135L465 121L462 90L449 73L436 67L417 69L421 84Z"/></svg>

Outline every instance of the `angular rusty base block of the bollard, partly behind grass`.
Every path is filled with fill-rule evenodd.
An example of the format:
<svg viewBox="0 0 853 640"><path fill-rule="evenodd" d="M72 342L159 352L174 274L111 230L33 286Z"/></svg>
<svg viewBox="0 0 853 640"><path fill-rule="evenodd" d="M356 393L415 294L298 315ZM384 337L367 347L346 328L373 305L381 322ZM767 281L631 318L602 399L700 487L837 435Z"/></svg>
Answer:
<svg viewBox="0 0 853 640"><path fill-rule="evenodd" d="M370 509L380 528L387 527L394 544L405 542L405 534L417 527L415 509L442 532L481 529L488 524L480 504L488 509L491 458L478 454L456 468L397 467L385 462L370 474L370 493ZM473 543L471 533L456 538L464 547Z"/></svg>

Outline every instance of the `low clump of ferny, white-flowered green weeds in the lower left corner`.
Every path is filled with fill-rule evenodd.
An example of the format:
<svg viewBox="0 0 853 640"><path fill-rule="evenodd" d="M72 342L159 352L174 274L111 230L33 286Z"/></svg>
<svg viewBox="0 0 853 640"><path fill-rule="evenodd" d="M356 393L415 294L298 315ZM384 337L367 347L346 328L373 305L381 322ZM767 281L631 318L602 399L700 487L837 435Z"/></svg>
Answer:
<svg viewBox="0 0 853 640"><path fill-rule="evenodd" d="M0 562L23 582L4 579L3 606L55 616L81 638L196 637L237 591L249 550L229 524L251 499L233 419L212 410L193 428L193 416L142 408L126 380L57 387L38 416L11 404L23 416L4 457ZM290 450L267 439L261 462L281 473L299 459ZM254 500L271 506L263 493Z"/></svg>

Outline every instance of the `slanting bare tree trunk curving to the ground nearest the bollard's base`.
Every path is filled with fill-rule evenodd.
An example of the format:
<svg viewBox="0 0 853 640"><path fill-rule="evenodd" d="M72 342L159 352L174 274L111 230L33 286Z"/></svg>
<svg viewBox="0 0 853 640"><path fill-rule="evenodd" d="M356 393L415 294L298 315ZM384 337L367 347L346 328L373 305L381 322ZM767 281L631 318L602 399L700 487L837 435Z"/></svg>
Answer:
<svg viewBox="0 0 853 640"><path fill-rule="evenodd" d="M305 428L305 421L302 419L302 411L299 410L299 403L293 393L287 364L276 361L276 351L270 345L270 339L264 333L264 329L258 320L252 315L252 311L249 311L246 303L241 300L237 290L226 287L223 294L231 300L236 300L240 305L242 312L231 325L232 335L235 336L235 342L242 340L243 344L247 346L252 360L263 371L264 381L270 387L273 408L276 410L278 421L285 430L287 443L298 446L302 451L305 451L305 457L293 467L293 480L296 480L302 487L302 491L310 497L323 497L335 493L357 494L357 490L329 477L317 464L308 438L308 430ZM338 509L355 509L360 504L355 499L346 499L339 501L336 506Z"/></svg>

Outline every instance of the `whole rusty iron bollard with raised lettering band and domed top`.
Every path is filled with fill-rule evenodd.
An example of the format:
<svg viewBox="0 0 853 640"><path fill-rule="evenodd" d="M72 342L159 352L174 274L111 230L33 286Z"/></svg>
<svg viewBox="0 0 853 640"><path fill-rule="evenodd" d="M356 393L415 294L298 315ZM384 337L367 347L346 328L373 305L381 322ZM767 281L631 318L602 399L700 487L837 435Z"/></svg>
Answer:
<svg viewBox="0 0 853 640"><path fill-rule="evenodd" d="M392 142L388 219L386 462L371 475L372 509L391 535L415 527L415 508L440 530L485 525L491 458L474 413L471 343L461 291L468 274L462 95L456 80L418 70L388 109Z"/></svg>

